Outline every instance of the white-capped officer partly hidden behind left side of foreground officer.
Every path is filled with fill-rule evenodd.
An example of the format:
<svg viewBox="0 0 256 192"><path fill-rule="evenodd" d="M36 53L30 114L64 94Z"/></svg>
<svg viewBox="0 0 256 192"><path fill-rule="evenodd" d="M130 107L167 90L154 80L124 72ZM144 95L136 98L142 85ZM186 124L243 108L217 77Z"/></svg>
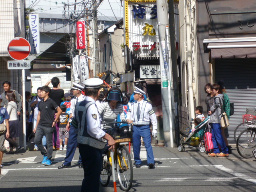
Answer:
<svg viewBox="0 0 256 192"><path fill-rule="evenodd" d="M72 122L72 119L74 118L74 111L75 111L76 104L85 99L85 96L82 94L83 89L84 87L77 83L73 83L73 87L71 88L71 90L73 90L74 97L71 99L70 118L69 118L70 120L66 126L66 130L69 131L68 146L67 146L67 152L66 152L66 157L64 159L64 163L62 164L62 166L58 166L58 169L63 169L71 166L71 162L76 152L77 129L74 128L71 122ZM78 168L83 168L81 155L79 156L79 160L78 160Z"/></svg>

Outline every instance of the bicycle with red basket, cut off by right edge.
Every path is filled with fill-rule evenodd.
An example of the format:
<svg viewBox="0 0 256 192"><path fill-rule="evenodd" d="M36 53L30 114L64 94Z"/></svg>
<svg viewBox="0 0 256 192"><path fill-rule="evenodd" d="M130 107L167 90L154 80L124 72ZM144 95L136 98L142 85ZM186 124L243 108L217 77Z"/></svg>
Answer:
<svg viewBox="0 0 256 192"><path fill-rule="evenodd" d="M240 132L236 141L236 149L243 158L252 158L252 150L256 148L256 141L254 140L256 136L256 116L251 113L249 109L246 109L246 114L243 115L243 124L246 129Z"/></svg>

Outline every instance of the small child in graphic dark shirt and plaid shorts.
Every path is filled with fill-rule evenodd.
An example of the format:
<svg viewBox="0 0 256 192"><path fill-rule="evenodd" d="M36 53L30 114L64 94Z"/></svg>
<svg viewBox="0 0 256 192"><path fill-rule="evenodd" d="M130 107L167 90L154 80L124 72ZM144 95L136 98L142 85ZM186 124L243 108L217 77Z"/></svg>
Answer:
<svg viewBox="0 0 256 192"><path fill-rule="evenodd" d="M68 118L69 114L66 113L67 106L61 105L60 109L62 110L62 113L60 114L60 130L59 130L59 138L60 138L60 150L67 150L67 144L68 144L68 130L66 130L66 126L68 124ZM65 138L65 144L63 148L63 139Z"/></svg>

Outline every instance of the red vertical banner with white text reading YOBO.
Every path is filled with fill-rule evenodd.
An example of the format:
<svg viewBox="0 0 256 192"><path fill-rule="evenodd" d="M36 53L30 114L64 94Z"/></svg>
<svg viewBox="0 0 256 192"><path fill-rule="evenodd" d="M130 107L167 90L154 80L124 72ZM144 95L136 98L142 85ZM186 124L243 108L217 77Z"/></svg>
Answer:
<svg viewBox="0 0 256 192"><path fill-rule="evenodd" d="M76 22L76 49L85 49L85 23Z"/></svg>

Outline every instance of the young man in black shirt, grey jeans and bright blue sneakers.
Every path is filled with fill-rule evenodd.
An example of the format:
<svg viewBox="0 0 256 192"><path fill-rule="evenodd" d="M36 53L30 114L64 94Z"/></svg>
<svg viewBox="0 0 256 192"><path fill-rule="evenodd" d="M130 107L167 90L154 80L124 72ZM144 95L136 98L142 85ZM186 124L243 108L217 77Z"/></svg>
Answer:
<svg viewBox="0 0 256 192"><path fill-rule="evenodd" d="M50 166L52 164L52 132L62 110L54 102L49 94L51 92L50 87L43 86L41 89L42 101L38 104L38 116L36 120L36 128L33 130L35 135L35 144L38 146L41 154L44 156L41 164ZM55 110L57 110L56 118L54 119ZM42 145L42 138L46 136L47 150Z"/></svg>

